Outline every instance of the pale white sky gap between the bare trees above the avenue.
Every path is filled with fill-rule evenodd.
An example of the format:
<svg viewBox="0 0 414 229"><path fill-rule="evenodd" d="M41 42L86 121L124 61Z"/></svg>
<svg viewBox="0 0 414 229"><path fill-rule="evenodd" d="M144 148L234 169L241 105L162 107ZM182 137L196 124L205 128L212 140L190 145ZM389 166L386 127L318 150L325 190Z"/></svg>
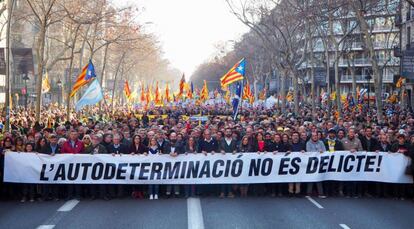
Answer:
<svg viewBox="0 0 414 229"><path fill-rule="evenodd" d="M139 20L159 38L164 57L189 78L220 42L231 43L248 31L225 0L134 0L144 8ZM150 22L150 23L148 23Z"/></svg>

